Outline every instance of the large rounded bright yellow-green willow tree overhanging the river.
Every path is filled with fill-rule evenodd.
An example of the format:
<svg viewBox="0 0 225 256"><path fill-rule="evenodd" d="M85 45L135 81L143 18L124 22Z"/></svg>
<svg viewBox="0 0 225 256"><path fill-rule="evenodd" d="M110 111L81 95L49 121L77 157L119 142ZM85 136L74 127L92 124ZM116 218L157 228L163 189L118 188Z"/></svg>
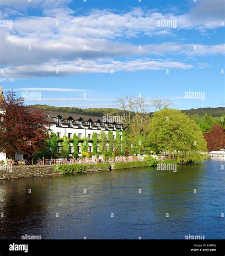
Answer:
<svg viewBox="0 0 225 256"><path fill-rule="evenodd" d="M203 159L199 152L206 152L206 140L194 120L174 109L162 109L153 114L150 121L149 143L157 149L175 154L183 162Z"/></svg>

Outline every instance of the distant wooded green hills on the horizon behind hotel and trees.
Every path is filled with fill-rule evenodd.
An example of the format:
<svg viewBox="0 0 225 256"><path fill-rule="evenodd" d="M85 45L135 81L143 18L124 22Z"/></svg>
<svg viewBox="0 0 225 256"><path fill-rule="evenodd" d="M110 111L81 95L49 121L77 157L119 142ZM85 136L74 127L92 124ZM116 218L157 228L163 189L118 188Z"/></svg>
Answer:
<svg viewBox="0 0 225 256"><path fill-rule="evenodd" d="M30 105L32 108L40 109L40 110L49 110L49 111L56 111L56 112L69 112L69 113L76 113L76 114L87 114L87 115L94 115L94 116L103 116L103 115L122 115L122 110L117 108L75 108L75 107L54 107L48 105ZM222 114L225 114L224 107L217 107L217 108L197 108L197 109L188 109L188 110L181 110L183 113L186 114L199 114L203 116L204 114L212 115L213 117L220 117ZM152 113L150 113L151 115Z"/></svg>

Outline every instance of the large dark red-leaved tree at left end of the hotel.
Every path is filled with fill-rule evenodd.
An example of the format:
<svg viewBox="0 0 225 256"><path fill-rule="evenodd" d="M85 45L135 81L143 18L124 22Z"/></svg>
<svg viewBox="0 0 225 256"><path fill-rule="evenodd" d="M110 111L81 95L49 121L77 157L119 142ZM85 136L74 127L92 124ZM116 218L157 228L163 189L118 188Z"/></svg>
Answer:
<svg viewBox="0 0 225 256"><path fill-rule="evenodd" d="M8 91L0 113L0 151L7 157L15 154L34 154L46 147L47 116L24 105L23 98Z"/></svg>

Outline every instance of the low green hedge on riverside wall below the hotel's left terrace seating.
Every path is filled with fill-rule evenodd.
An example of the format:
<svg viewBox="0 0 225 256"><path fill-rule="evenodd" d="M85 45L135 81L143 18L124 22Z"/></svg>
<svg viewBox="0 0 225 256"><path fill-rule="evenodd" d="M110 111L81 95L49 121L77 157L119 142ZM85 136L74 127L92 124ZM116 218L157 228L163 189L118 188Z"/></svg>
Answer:
<svg viewBox="0 0 225 256"><path fill-rule="evenodd" d="M109 170L111 164L59 164L54 170L60 173L83 173L88 170Z"/></svg>

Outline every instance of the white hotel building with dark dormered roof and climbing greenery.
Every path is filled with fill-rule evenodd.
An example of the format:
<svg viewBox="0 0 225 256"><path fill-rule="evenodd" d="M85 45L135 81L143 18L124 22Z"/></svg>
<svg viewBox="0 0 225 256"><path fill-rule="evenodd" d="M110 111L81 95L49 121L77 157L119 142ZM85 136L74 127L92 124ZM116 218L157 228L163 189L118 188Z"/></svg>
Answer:
<svg viewBox="0 0 225 256"><path fill-rule="evenodd" d="M59 139L56 151L57 154L61 153L60 138L63 138L64 135L66 135L69 139L73 139L73 135L76 133L77 137L79 138L78 148L74 149L71 142L69 154L77 152L80 155L82 154L81 143L83 142L85 136L88 139L88 152L93 152L92 134L94 132L97 133L97 138L99 138L100 133L103 131L108 138L109 131L112 131L115 139L116 131L119 130L120 138L122 140L122 130L125 130L121 122L108 121L109 119L115 120L116 117L105 118L86 114L59 113L54 111L44 111L44 113L47 115L47 121L50 123L49 132L56 133ZM108 146L109 144L106 143L107 149Z"/></svg>

